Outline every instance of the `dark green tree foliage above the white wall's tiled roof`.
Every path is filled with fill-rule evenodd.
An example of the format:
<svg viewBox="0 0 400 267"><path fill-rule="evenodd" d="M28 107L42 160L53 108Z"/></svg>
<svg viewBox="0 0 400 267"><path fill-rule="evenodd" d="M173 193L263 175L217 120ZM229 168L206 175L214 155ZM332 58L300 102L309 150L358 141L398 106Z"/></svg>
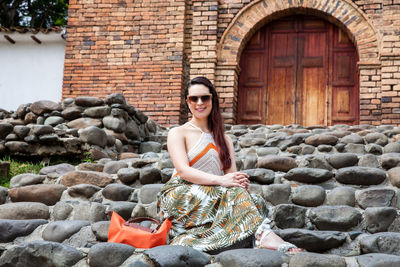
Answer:
<svg viewBox="0 0 400 267"><path fill-rule="evenodd" d="M0 0L0 26L49 28L67 25L69 0Z"/></svg>

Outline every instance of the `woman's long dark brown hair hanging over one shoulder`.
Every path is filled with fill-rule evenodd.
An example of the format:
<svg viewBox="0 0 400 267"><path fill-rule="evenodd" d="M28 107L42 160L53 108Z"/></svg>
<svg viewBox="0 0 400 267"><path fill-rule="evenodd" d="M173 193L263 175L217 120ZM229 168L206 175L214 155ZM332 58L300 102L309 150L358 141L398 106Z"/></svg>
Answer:
<svg viewBox="0 0 400 267"><path fill-rule="evenodd" d="M212 94L212 109L211 114L208 116L208 128L211 130L215 144L218 148L219 159L222 163L224 171L229 169L232 165L231 157L229 154L228 145L225 139L225 127L222 119L221 110L219 108L219 97L214 85L206 77L196 77L192 79L185 89L185 99L189 94L189 88L195 84L202 84L210 90Z"/></svg>

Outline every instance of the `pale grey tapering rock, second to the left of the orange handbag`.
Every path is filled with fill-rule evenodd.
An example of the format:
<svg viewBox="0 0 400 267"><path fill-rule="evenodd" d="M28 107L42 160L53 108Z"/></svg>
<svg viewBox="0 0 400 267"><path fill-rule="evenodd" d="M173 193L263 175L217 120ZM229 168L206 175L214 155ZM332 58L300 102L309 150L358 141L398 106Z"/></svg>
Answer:
<svg viewBox="0 0 400 267"><path fill-rule="evenodd" d="M68 220L51 222L44 229L42 237L46 241L61 243L87 225L90 225L89 221Z"/></svg>

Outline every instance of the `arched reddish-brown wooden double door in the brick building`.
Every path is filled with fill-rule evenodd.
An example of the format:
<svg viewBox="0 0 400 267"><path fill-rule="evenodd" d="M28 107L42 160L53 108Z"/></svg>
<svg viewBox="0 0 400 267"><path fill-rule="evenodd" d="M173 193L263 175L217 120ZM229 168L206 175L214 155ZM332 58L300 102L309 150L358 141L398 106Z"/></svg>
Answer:
<svg viewBox="0 0 400 267"><path fill-rule="evenodd" d="M292 16L254 34L241 60L238 122L357 124L357 52L335 25Z"/></svg>

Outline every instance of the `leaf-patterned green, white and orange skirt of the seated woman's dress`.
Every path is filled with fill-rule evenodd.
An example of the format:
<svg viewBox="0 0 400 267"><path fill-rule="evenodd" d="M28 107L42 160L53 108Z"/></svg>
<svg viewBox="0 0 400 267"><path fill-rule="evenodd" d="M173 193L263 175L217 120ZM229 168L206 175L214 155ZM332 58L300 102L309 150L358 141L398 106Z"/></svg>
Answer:
<svg viewBox="0 0 400 267"><path fill-rule="evenodd" d="M179 176L159 193L163 216L173 216L170 245L201 251L230 247L254 235L268 215L264 199L241 187L204 186Z"/></svg>

